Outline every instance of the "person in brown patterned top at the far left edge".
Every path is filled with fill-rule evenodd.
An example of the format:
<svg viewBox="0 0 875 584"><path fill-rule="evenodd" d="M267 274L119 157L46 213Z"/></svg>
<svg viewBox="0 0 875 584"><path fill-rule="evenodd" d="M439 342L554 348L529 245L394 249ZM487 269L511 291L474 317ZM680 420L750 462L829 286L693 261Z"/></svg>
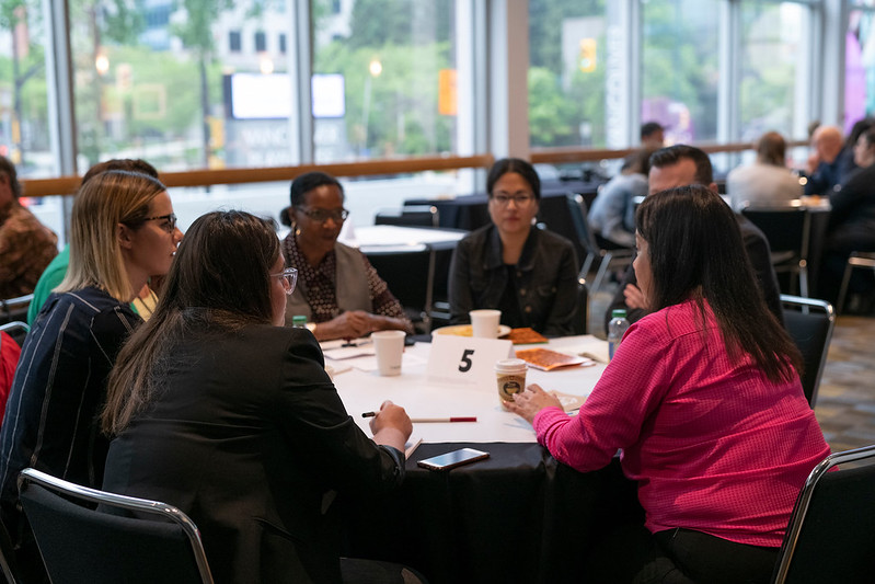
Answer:
<svg viewBox="0 0 875 584"><path fill-rule="evenodd" d="M20 202L15 167L0 156L0 299L34 291L39 274L58 254L58 237Z"/></svg>

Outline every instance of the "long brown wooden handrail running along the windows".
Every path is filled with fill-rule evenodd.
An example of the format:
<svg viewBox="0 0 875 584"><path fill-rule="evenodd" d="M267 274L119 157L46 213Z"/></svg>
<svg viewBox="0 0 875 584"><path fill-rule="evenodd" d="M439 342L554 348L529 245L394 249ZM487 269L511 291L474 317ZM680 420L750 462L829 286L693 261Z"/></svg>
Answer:
<svg viewBox="0 0 875 584"><path fill-rule="evenodd" d="M749 142L700 144L699 148L709 153L740 152L753 149ZM804 140L787 142L787 148L808 146ZM620 150L592 149L580 147L542 148L532 150L532 163L594 162L624 158L634 148ZM493 154L470 157L422 157L405 159L383 159L367 162L338 162L333 164L302 164L299 167L274 167L266 169L219 169L194 170L186 172L162 172L161 181L168 186L210 186L214 184L246 184L276 181L291 181L299 174L319 170L334 176L372 176L378 174L406 174L411 172L441 171L457 169L488 169L495 161ZM69 195L76 192L80 176L59 176L56 179L22 180L24 195L31 197Z"/></svg>

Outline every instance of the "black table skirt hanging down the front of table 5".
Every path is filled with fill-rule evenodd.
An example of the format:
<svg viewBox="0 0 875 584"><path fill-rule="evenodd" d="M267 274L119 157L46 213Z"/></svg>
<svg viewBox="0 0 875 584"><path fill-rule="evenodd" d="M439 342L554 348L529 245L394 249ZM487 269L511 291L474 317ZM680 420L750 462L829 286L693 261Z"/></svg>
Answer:
<svg viewBox="0 0 875 584"><path fill-rule="evenodd" d="M416 461L462 447L487 460L451 471ZM575 582L594 547L643 524L617 459L580 473L537 444L424 444L400 489L352 512L345 556L400 562L429 582Z"/></svg>

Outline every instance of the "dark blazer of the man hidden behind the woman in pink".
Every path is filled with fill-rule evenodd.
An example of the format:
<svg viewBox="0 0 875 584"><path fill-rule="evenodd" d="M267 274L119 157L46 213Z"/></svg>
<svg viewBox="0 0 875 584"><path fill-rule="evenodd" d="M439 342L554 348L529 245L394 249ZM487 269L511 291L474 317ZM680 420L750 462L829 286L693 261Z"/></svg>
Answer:
<svg viewBox="0 0 875 584"><path fill-rule="evenodd" d="M765 299L765 305L769 310L778 318L778 321L784 322L784 312L781 309L781 291L778 288L778 276L772 266L772 252L769 249L769 240L765 239L763 232L753 225L750 219L741 215L736 215L738 219L738 228L741 230L741 240L745 243L745 251L753 266L753 275L757 277L760 291ZM638 285L638 278L635 276L635 271L632 264L629 265L623 276L623 282L613 295L608 310L605 311L605 332L608 332L608 323L611 321L611 312L617 309L624 309L626 311L626 319L629 322L640 320L647 312L641 308L630 309L625 304L625 296L623 290L626 284Z"/></svg>

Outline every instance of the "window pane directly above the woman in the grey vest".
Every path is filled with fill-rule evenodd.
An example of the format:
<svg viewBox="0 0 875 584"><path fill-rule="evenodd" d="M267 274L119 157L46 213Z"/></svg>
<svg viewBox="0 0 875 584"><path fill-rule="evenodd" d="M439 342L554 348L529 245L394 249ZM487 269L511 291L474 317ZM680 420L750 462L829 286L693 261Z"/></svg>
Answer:
<svg viewBox="0 0 875 584"><path fill-rule="evenodd" d="M456 2L313 4L315 161L456 152Z"/></svg>

